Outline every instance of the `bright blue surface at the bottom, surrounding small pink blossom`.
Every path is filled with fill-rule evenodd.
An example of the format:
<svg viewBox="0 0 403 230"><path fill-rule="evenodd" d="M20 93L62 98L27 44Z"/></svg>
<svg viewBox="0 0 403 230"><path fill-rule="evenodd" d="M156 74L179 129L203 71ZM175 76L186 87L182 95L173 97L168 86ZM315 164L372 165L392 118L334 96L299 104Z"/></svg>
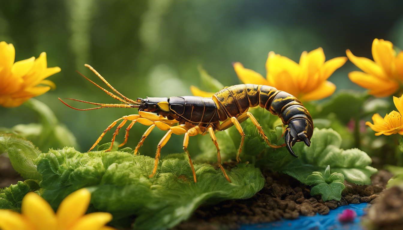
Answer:
<svg viewBox="0 0 403 230"><path fill-rule="evenodd" d="M364 230L359 224L361 216L365 214L364 209L368 207L368 203L350 204L337 207L330 210L328 215L301 216L295 220L279 220L266 224L248 224L241 226L241 230ZM357 217L352 222L339 222L339 214L345 209L353 209L357 213Z"/></svg>

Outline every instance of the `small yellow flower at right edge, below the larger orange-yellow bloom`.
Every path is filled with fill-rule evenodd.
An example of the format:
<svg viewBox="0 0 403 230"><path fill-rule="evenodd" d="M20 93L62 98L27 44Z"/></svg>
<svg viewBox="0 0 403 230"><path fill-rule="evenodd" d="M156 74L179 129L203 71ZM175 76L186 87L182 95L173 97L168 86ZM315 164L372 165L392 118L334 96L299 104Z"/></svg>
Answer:
<svg viewBox="0 0 403 230"><path fill-rule="evenodd" d="M390 114L386 114L386 116L382 119L379 114L374 114L372 116L371 122L365 122L366 125L370 126L372 130L374 130L376 136L379 135L392 135L395 133L399 133L403 135L403 122L402 122L402 114L403 114L403 95L402 97L393 97L393 103L395 104L397 111L393 110Z"/></svg>

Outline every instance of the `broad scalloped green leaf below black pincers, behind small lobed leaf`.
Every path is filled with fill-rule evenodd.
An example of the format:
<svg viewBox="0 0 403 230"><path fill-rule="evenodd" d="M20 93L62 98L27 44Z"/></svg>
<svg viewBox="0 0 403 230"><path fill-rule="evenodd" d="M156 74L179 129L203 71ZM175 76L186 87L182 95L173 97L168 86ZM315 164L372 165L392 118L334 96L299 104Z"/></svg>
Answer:
<svg viewBox="0 0 403 230"><path fill-rule="evenodd" d="M334 172L344 175L348 182L369 184L370 176L377 172L369 166L371 158L359 149L340 149L341 137L332 129L314 129L311 146L299 142L293 146L298 158L287 155L282 161L268 162L273 170L289 174L305 183L312 172L325 170L330 165Z"/></svg>

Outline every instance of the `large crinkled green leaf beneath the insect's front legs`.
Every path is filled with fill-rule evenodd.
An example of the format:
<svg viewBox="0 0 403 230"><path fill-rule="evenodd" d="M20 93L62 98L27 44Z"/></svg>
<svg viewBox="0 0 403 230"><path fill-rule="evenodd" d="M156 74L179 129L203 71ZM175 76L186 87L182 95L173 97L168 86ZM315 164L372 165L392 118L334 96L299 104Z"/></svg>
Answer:
<svg viewBox="0 0 403 230"><path fill-rule="evenodd" d="M122 151L80 153L64 148L42 153L35 162L43 177L40 186L46 189L42 196L54 209L69 193L87 187L93 207L112 213L112 224L128 227L137 216L136 229L172 228L202 203L246 199L264 185L260 170L251 164L226 170L232 183L221 170L195 164L194 183L186 153L160 160L151 178L153 158Z"/></svg>

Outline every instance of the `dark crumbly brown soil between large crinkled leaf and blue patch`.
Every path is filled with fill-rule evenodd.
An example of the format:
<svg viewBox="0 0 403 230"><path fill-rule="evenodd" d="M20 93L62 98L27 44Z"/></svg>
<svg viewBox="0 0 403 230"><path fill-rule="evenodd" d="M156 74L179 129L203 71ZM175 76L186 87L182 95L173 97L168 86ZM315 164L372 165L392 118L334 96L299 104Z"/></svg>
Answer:
<svg viewBox="0 0 403 230"><path fill-rule="evenodd" d="M288 175L270 171L264 171L263 175L266 178L265 186L250 199L223 201L217 205L199 207L189 220L173 230L237 229L240 224L267 223L281 218L295 219L299 215L312 216L316 213L326 215L330 209L342 205L372 203L392 177L390 172L380 170L372 176L371 185L345 183L346 189L340 201L323 202L320 195L310 195L310 186L303 185ZM403 192L401 196L403 197ZM402 207L403 200L400 208Z"/></svg>

